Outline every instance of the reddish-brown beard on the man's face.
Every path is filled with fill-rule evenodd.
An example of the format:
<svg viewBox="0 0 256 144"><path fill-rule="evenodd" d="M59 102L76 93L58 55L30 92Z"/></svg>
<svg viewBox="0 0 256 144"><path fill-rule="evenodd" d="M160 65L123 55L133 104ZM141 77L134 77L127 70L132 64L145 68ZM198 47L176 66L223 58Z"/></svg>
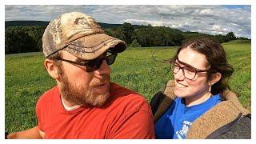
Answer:
<svg viewBox="0 0 256 144"><path fill-rule="evenodd" d="M94 94L94 91L90 86L74 86L70 83L66 74L63 71L60 74L62 79L62 86L60 88L62 98L68 102L72 102L76 105L92 105L92 106L102 106L107 98L109 98L110 83L108 83L108 89L102 94ZM106 76L103 82L110 82L110 76ZM87 88L86 88L87 87Z"/></svg>

